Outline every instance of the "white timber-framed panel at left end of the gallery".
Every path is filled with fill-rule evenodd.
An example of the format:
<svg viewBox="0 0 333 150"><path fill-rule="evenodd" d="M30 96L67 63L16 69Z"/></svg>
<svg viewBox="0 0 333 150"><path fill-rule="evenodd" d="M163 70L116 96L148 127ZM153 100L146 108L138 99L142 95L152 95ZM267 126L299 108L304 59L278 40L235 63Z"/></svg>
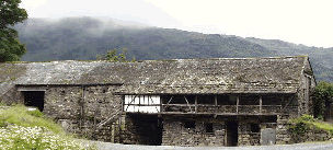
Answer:
<svg viewBox="0 0 333 150"><path fill-rule="evenodd" d="M160 113L160 95L125 95L124 112Z"/></svg>

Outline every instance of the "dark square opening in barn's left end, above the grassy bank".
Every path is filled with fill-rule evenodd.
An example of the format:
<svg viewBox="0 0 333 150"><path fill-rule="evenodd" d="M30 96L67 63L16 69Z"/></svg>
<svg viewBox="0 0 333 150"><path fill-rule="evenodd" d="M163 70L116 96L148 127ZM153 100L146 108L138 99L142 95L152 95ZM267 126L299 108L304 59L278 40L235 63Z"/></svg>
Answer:
<svg viewBox="0 0 333 150"><path fill-rule="evenodd" d="M23 91L24 105L38 108L41 112L44 109L44 91Z"/></svg>

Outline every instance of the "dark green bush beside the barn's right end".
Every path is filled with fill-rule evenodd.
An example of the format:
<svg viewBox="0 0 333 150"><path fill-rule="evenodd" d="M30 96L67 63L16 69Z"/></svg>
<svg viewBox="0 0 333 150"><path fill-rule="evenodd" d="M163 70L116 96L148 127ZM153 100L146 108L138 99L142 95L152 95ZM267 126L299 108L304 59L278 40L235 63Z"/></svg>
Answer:
<svg viewBox="0 0 333 150"><path fill-rule="evenodd" d="M314 90L313 114L314 117L323 117L333 99L333 83L320 82Z"/></svg>

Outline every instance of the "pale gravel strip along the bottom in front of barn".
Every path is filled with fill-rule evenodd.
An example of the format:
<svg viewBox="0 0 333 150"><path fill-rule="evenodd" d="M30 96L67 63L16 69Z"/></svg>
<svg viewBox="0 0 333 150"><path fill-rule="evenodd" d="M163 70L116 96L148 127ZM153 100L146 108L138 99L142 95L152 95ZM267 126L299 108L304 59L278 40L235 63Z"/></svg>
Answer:
<svg viewBox="0 0 333 150"><path fill-rule="evenodd" d="M253 147L172 147L97 142L99 150L333 150L333 142L253 146Z"/></svg>

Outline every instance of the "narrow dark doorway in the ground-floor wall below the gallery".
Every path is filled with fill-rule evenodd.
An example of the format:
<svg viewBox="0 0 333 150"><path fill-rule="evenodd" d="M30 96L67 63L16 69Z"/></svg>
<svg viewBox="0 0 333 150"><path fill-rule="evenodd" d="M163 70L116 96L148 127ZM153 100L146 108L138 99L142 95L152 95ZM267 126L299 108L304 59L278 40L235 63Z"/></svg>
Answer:
<svg viewBox="0 0 333 150"><path fill-rule="evenodd" d="M227 122L227 147L237 147L238 146L238 123L237 122Z"/></svg>

